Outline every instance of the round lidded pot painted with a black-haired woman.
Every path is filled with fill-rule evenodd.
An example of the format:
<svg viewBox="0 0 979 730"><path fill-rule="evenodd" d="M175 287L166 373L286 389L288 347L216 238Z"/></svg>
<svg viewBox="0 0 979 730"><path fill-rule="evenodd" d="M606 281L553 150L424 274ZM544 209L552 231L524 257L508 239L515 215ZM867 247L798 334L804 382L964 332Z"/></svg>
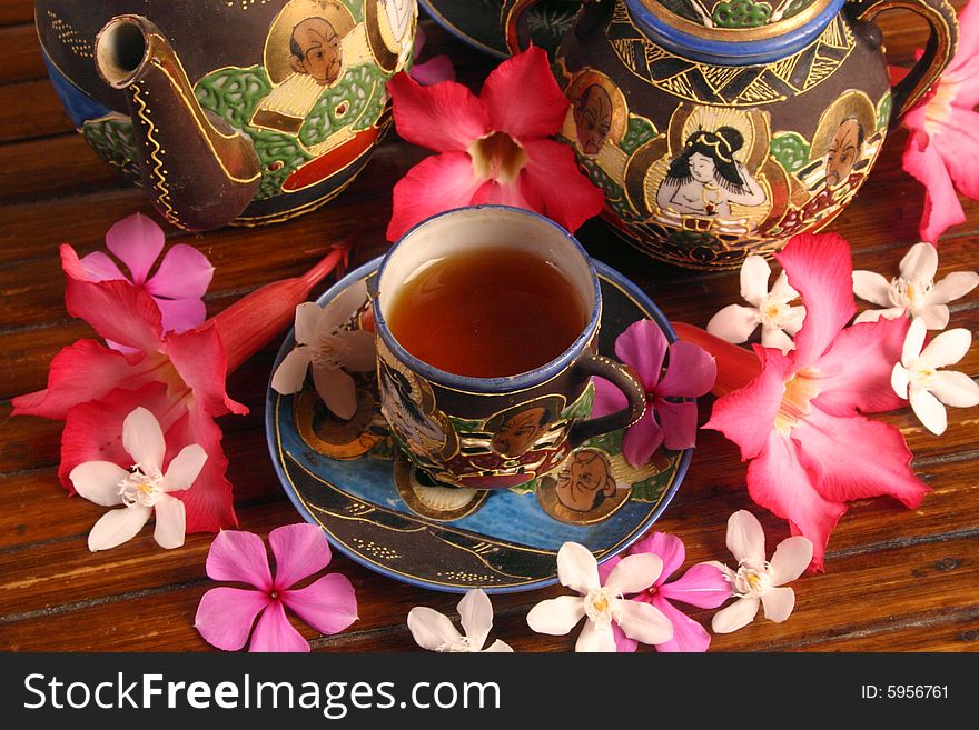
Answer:
<svg viewBox="0 0 979 730"><path fill-rule="evenodd" d="M534 4L503 3L514 52ZM891 8L930 29L893 87L871 22ZM626 241L682 267L734 268L840 214L957 39L946 0L590 2L554 63L571 101L561 137Z"/></svg>

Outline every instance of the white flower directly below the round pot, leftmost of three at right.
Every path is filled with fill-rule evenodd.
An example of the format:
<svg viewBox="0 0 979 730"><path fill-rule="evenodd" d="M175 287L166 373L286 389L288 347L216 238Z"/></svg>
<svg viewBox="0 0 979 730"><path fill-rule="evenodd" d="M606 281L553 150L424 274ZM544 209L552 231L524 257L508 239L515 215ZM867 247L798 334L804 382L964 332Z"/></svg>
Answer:
<svg viewBox="0 0 979 730"><path fill-rule="evenodd" d="M779 274L769 291L769 277L772 270L760 256L750 256L741 264L741 297L751 304L731 304L711 318L708 332L739 344L745 342L761 324L761 343L767 348L778 348L782 354L793 349L790 334L795 334L805 318L805 308L790 307L789 302L799 298L799 292L789 286L785 272Z"/></svg>

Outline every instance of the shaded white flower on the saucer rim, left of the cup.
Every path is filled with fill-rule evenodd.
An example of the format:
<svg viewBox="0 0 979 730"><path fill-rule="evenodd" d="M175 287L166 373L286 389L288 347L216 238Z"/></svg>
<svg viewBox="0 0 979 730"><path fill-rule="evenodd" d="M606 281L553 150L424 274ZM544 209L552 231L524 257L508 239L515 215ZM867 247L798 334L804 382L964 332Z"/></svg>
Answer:
<svg viewBox="0 0 979 730"><path fill-rule="evenodd" d="M367 282L360 280L324 308L315 302L296 307L296 348L273 374L273 390L284 396L299 392L312 364L313 383L326 407L338 418L353 418L357 411L357 390L354 379L344 369L374 370L374 334L340 328L366 299Z"/></svg>

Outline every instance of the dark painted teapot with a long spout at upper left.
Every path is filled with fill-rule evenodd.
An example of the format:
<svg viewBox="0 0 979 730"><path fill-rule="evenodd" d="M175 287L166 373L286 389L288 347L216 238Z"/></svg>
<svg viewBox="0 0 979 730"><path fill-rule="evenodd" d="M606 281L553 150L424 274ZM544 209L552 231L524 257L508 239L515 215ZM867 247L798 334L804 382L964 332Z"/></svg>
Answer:
<svg viewBox="0 0 979 730"><path fill-rule="evenodd" d="M415 0L37 0L95 152L174 226L257 226L339 194L390 126Z"/></svg>

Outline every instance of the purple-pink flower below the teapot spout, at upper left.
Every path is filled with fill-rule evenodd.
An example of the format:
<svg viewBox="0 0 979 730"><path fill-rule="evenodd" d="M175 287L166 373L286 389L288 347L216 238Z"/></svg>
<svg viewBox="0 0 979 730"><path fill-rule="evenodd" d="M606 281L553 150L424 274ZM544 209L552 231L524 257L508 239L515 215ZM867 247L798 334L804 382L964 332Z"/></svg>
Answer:
<svg viewBox="0 0 979 730"><path fill-rule="evenodd" d="M157 271L150 270L164 250L164 231L140 213L123 218L106 233L106 246L128 269L127 277L106 253L83 257L81 268L92 281L129 281L150 294L160 308L165 332L184 332L204 322L201 297L214 276L207 257L192 246L171 246ZM111 343L110 343L111 347Z"/></svg>

